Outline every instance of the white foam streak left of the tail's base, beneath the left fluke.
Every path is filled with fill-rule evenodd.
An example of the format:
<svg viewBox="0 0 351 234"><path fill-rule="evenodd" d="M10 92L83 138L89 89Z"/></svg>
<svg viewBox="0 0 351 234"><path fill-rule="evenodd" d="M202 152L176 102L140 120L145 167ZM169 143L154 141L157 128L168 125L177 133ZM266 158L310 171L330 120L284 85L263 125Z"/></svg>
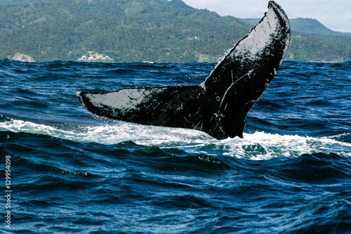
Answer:
<svg viewBox="0 0 351 234"><path fill-rule="evenodd" d="M18 119L0 122L0 131L42 134L81 143L101 143L113 145L133 141L140 145L183 145L208 141L213 138L192 129L171 129L158 126L143 126L116 122L114 125L70 126L69 129L45 124L36 124Z"/></svg>

